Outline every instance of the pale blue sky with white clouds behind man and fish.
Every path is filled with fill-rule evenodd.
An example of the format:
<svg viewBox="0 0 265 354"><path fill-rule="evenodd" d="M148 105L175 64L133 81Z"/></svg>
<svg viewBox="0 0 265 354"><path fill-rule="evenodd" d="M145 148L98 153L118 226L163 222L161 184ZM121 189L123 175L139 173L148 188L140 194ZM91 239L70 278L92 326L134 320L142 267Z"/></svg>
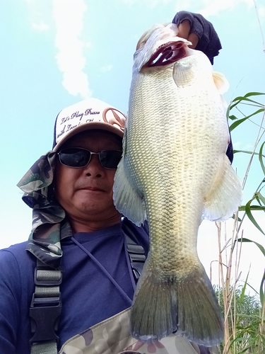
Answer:
<svg viewBox="0 0 265 354"><path fill-rule="evenodd" d="M1 2L0 248L28 239L31 210L22 202L16 183L40 155L51 149L57 113L90 95L126 113L137 41L151 25L172 21L180 10L201 13L214 24L223 49L213 69L225 74L230 82L225 93L228 102L249 91L265 92L263 0L188 0L185 8L183 1L176 0ZM264 103L264 98L259 101ZM257 131L251 122L242 125L232 133L235 147L251 149ZM245 175L248 160L242 154L235 156L233 166L240 178ZM255 162L245 200L261 178ZM264 217L257 217L262 224ZM204 256L204 249L216 237L209 241L207 235L213 225L206 225L206 231L199 235L199 252L207 270L211 259L208 254ZM250 229L251 225L246 226L247 231ZM244 236L257 237L264 244L262 235L251 230ZM254 258L264 263L264 258Z"/></svg>

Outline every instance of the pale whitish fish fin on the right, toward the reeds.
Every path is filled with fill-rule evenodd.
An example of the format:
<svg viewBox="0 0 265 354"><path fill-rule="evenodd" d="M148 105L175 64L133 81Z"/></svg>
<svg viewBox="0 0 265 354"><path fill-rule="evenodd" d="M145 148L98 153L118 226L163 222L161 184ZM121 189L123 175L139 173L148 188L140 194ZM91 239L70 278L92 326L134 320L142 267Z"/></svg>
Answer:
<svg viewBox="0 0 265 354"><path fill-rule="evenodd" d="M242 201L242 185L226 155L223 165L223 175L216 178L204 201L204 219L211 221L229 219Z"/></svg>

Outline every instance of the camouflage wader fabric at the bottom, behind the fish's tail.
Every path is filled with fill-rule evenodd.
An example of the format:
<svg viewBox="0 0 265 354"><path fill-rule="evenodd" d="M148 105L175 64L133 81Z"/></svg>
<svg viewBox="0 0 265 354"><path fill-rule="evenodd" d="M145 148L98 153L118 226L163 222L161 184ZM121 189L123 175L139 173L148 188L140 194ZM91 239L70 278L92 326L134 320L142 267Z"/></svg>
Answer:
<svg viewBox="0 0 265 354"><path fill-rule="evenodd" d="M217 354L217 348L199 348L187 338L172 334L161 341L143 343L129 334L130 309L106 319L66 341L59 354ZM205 349L205 351L204 351Z"/></svg>

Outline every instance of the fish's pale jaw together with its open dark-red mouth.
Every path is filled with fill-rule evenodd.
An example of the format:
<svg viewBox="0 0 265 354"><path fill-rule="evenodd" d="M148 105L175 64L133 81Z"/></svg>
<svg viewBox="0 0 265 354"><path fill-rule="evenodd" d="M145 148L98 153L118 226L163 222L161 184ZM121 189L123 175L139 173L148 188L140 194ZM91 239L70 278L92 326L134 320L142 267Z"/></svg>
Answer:
<svg viewBox="0 0 265 354"><path fill-rule="evenodd" d="M177 36L175 23L157 24L141 36L134 53L134 71L175 63L189 55L192 42Z"/></svg>

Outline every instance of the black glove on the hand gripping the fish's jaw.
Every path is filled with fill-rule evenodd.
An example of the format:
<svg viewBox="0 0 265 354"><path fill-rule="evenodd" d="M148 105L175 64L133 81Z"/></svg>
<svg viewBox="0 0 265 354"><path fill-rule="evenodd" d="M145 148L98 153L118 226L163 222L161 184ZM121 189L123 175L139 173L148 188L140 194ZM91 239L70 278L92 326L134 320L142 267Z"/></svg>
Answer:
<svg viewBox="0 0 265 354"><path fill-rule="evenodd" d="M201 50L201 52L204 52L204 54L209 58L211 64L213 64L213 57L216 57L216 55L219 54L219 50L222 49L218 34L213 28L213 25L199 13L187 11L177 12L172 23L180 25L180 23L184 20L188 20L191 25L190 33L195 33L199 37L196 50Z"/></svg>

